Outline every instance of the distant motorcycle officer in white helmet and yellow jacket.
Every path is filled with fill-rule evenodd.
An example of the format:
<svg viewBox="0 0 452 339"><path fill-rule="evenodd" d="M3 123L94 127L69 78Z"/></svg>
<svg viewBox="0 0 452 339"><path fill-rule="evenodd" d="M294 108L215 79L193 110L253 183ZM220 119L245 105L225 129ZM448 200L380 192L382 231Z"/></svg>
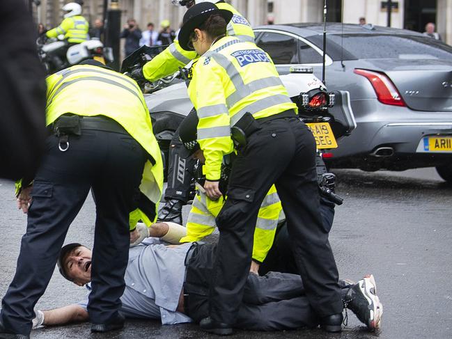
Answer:
<svg viewBox="0 0 452 339"><path fill-rule="evenodd" d="M63 10L65 11L64 20L59 26L45 33L47 38L56 38L63 34L65 40L70 44L79 44L86 41L89 24L81 16L81 6L78 3L70 2L63 6Z"/></svg>

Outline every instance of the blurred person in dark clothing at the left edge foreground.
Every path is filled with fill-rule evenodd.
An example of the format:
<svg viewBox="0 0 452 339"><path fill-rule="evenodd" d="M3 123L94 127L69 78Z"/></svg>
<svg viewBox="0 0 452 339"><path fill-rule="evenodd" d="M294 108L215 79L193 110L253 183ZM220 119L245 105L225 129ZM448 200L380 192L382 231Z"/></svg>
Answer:
<svg viewBox="0 0 452 339"><path fill-rule="evenodd" d="M24 1L1 1L0 22L0 178L31 180L47 133L38 34Z"/></svg>

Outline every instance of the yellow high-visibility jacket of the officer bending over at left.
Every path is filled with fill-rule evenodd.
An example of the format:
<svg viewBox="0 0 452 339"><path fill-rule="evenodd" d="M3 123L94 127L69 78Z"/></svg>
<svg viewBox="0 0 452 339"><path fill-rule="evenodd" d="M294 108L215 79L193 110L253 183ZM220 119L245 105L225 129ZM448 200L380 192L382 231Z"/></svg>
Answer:
<svg viewBox="0 0 452 339"><path fill-rule="evenodd" d="M139 208L130 214L131 229L139 219L150 226L157 219L162 197L163 162L137 83L113 70L91 65L75 65L56 72L47 77L47 125L65 113L116 120L154 159L154 165L146 161L139 187L142 193Z"/></svg>

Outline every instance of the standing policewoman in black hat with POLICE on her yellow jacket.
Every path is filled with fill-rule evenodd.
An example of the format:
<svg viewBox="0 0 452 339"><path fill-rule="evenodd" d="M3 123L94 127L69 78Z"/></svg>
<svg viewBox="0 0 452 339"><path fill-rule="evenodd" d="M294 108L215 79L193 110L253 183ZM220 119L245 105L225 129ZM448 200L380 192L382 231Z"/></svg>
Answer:
<svg viewBox="0 0 452 339"><path fill-rule="evenodd" d="M232 333L251 264L251 225L274 183L309 302L323 329L341 331L338 271L320 216L315 140L299 120L270 56L254 43L226 36L231 17L212 3L199 3L185 14L178 36L182 48L201 55L188 93L199 118L204 189L212 200L221 196L221 161L234 145L238 148L228 199L217 216L220 235L210 317L201 327Z"/></svg>

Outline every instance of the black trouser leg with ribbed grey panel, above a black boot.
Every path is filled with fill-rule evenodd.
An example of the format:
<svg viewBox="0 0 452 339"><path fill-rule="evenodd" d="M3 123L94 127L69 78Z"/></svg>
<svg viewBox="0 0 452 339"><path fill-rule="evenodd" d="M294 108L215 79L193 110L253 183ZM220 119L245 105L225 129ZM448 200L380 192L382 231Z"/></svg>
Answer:
<svg viewBox="0 0 452 339"><path fill-rule="evenodd" d="M177 199L186 204L192 182L189 171L193 171L196 159L192 157L182 159L179 155L182 147L184 145L179 139L179 129L177 129L169 146L168 186L165 190L165 200Z"/></svg>

